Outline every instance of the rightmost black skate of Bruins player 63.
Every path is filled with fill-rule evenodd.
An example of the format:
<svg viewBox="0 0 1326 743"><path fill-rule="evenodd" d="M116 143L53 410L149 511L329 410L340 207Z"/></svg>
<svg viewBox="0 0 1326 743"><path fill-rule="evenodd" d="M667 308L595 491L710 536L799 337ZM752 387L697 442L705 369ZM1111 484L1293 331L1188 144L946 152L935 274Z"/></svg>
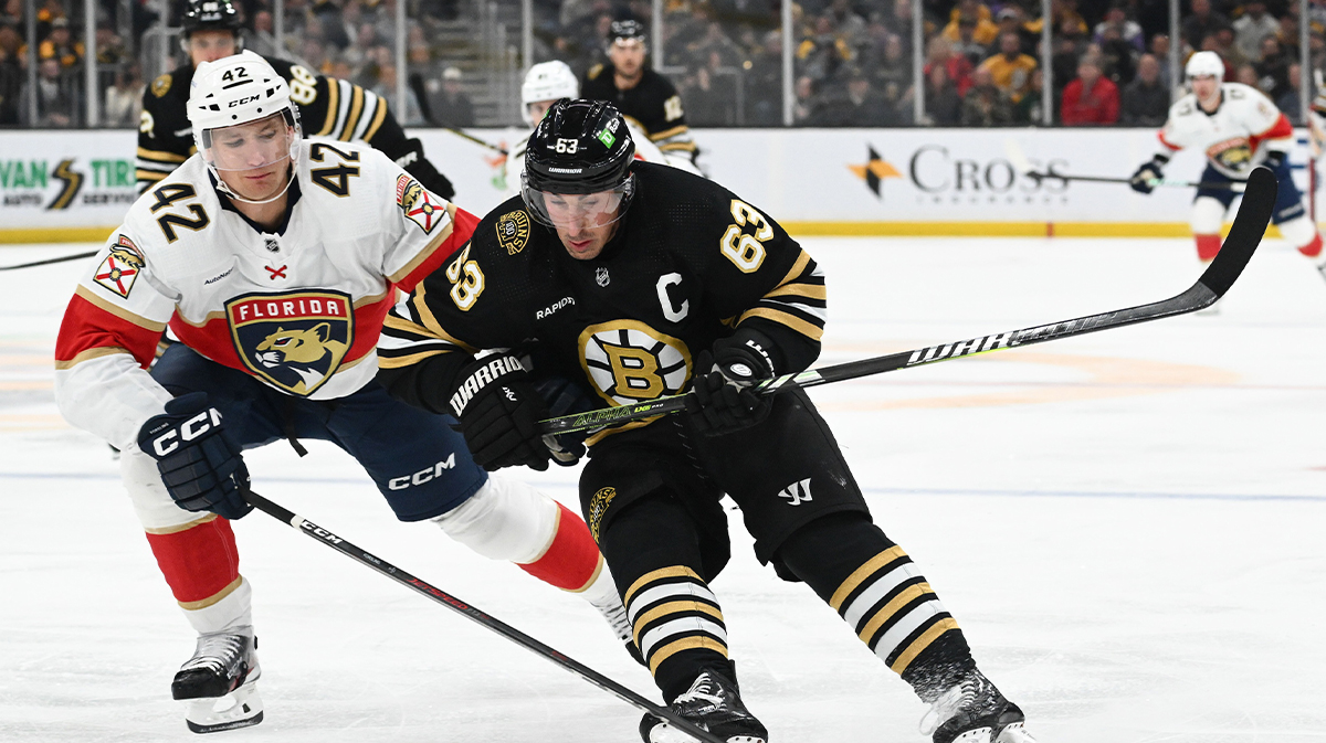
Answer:
<svg viewBox="0 0 1326 743"><path fill-rule="evenodd" d="M1022 710L973 668L940 693L922 717L920 731L935 743L1036 743L1025 722Z"/></svg>

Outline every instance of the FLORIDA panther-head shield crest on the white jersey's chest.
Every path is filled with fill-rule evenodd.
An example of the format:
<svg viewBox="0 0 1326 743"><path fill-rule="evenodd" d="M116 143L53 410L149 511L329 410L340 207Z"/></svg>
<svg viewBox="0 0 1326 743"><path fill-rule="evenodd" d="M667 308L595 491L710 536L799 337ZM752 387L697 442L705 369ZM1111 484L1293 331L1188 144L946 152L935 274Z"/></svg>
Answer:
<svg viewBox="0 0 1326 743"><path fill-rule="evenodd" d="M354 305L339 291L247 294L225 303L235 351L260 379L312 395L354 340Z"/></svg>

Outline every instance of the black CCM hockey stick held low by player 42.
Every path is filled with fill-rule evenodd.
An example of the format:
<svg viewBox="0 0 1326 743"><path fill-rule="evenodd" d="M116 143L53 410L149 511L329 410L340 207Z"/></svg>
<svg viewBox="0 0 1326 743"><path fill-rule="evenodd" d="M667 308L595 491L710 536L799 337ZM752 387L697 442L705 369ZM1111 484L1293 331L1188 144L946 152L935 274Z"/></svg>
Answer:
<svg viewBox="0 0 1326 743"><path fill-rule="evenodd" d="M351 560L362 566L370 567L381 572L382 575L390 577L391 580L395 580L396 583L411 588L416 593L427 596L428 599L432 599L434 601L442 604L443 607L452 609L453 612L464 616L465 619L476 624L480 624L484 628L496 632L497 634L501 634L503 637L511 640L517 645L524 646L526 650L530 650L533 653L537 653L548 658L549 661L553 661L554 664L579 675L585 681L593 683L594 686L598 686L599 689L610 694L615 694L617 698L622 699L623 702L634 705L656 718L667 720L668 724L686 732L692 738L703 740L704 743L724 743L724 740L717 735L713 735L712 732L701 727L696 727L695 723L686 720L672 710L655 705L654 702L650 702L648 699L636 694L635 691L631 691L630 689L622 686L621 683L613 681L611 678L607 678L606 675L598 673L597 670L581 664L579 661L575 661L549 648L548 645L544 645L538 640L534 640L533 637L511 626L509 624L493 619L487 613L479 611L477 608L472 607L471 604L467 604L465 601L456 599L451 593L447 593L440 588L435 588L434 585L430 585L423 580L419 580L418 577L407 573L406 571L392 566L391 563L383 560L382 558L378 558L377 555L373 555L366 550L355 547L354 544L346 542L343 538L332 534L330 531L322 528L321 526L305 519L304 517L293 511L289 511L273 503L272 501L268 501L267 498L259 495L257 493L253 493L248 487L244 487L243 491L244 491L244 499L248 501L255 509L263 511L264 514L280 522L285 522L286 524L302 531L304 534L312 536L320 543L332 547L333 550L341 552L342 555L346 555Z"/></svg>

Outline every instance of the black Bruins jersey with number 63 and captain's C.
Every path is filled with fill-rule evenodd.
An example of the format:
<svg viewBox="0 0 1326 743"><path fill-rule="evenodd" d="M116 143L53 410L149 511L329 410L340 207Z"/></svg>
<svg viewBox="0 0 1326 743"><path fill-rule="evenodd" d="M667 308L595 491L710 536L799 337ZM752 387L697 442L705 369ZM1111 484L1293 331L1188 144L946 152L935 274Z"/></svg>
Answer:
<svg viewBox="0 0 1326 743"><path fill-rule="evenodd" d="M650 163L633 170L635 197L593 260L572 258L520 197L489 212L387 317L379 381L451 413L471 355L512 348L533 355L537 377L573 380L599 408L622 405L688 389L696 355L736 327L772 340L780 373L809 367L825 323L823 275L810 256L712 181Z"/></svg>

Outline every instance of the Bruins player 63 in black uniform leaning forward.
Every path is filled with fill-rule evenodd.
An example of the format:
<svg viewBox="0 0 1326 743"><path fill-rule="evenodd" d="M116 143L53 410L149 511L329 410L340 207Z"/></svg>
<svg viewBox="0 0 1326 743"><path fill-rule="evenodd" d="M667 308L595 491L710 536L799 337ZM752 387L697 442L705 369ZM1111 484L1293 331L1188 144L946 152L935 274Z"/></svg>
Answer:
<svg viewBox="0 0 1326 743"><path fill-rule="evenodd" d="M932 705L935 743L1030 742L1021 710L977 670L957 622L871 522L810 399L751 391L818 356L826 294L815 262L723 187L633 154L610 105L554 103L529 140L521 197L394 310L379 380L455 413L488 469L546 466L548 409L532 375L574 380L590 407L693 389L686 415L591 434L579 483L634 644L678 714L729 742L768 738L739 698L709 589L729 556L725 493L760 562L809 584ZM648 715L640 732L646 743L688 740Z"/></svg>

